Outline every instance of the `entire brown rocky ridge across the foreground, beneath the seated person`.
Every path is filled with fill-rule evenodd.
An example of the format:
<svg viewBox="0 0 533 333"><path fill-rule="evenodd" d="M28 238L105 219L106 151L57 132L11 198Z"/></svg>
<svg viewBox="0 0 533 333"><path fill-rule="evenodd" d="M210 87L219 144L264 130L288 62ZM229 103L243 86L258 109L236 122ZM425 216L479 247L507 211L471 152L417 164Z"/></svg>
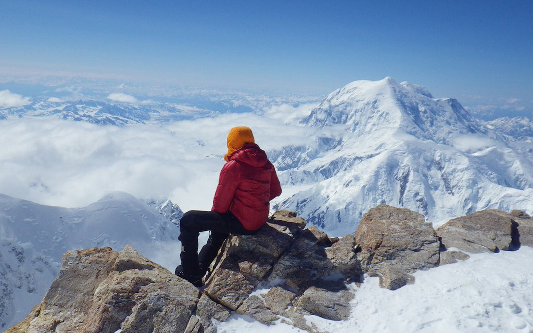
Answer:
<svg viewBox="0 0 533 333"><path fill-rule="evenodd" d="M5 333L214 332L233 312L318 332L305 316L348 319L352 282L365 274L394 290L467 253L533 246L533 219L520 210L484 210L434 230L419 213L380 205L343 238L305 225L280 211L259 233L233 235L201 289L131 246L68 251L42 302Z"/></svg>

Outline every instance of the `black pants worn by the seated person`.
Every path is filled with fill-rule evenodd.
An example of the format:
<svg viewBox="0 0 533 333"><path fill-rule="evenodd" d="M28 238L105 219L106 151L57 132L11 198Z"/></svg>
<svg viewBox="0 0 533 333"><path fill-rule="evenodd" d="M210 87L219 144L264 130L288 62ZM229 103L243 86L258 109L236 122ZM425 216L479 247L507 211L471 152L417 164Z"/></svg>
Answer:
<svg viewBox="0 0 533 333"><path fill-rule="evenodd" d="M200 231L211 230L206 245L198 254L198 235ZM181 265L188 276L203 275L199 264L208 267L218 253L222 243L230 233L254 234L258 230L246 230L237 217L231 213L205 212L190 210L180 220Z"/></svg>

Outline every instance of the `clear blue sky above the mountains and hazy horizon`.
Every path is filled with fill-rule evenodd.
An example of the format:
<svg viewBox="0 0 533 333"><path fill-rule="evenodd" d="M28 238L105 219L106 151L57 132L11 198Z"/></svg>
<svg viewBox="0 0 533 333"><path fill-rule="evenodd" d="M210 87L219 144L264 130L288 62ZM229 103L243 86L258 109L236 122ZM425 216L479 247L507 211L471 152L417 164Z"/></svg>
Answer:
<svg viewBox="0 0 533 333"><path fill-rule="evenodd" d="M318 90L391 76L533 105L533 1L0 0L0 75Z"/></svg>

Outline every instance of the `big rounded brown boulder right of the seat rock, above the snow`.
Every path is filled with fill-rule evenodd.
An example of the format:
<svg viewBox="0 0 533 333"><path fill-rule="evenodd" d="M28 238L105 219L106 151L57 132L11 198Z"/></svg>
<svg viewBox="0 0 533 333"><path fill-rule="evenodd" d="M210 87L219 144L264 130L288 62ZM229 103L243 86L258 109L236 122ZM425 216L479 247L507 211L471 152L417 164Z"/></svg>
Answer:
<svg viewBox="0 0 533 333"><path fill-rule="evenodd" d="M355 234L361 268L379 284L398 289L414 278L408 273L439 265L439 240L422 214L379 205L362 218Z"/></svg>

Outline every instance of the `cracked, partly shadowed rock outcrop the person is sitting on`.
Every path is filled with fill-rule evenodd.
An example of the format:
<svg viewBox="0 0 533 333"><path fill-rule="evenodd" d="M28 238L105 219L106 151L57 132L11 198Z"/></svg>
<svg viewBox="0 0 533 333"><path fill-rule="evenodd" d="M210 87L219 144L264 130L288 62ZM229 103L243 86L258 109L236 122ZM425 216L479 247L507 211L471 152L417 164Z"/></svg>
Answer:
<svg viewBox="0 0 533 333"><path fill-rule="evenodd" d="M281 319L314 331L305 315L347 319L353 293L344 282L361 275L353 235L332 239L315 226L303 230L305 221L293 214L278 212L259 233L228 239L205 294L266 324ZM253 293L267 286L268 293Z"/></svg>

